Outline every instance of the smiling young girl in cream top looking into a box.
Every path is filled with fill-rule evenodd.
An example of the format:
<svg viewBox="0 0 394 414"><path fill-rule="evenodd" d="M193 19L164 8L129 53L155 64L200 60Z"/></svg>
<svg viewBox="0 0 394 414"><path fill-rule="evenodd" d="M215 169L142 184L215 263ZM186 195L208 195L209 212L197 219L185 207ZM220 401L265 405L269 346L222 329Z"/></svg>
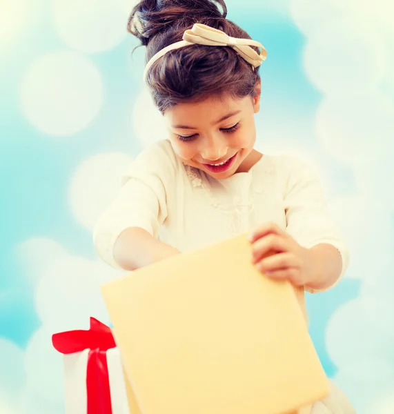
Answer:
<svg viewBox="0 0 394 414"><path fill-rule="evenodd" d="M167 138L132 164L95 246L108 264L135 270L249 231L255 266L290 280L304 306L304 290L337 284L348 251L314 172L253 148L266 50L226 11L224 0L144 0L132 11ZM318 413L355 411L333 387Z"/></svg>

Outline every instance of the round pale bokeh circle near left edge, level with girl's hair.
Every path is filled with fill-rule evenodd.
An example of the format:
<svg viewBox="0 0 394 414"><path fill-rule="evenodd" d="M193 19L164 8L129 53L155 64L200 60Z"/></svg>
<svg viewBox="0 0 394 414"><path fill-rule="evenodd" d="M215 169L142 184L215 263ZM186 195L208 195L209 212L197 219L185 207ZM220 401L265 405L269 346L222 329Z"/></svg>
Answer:
<svg viewBox="0 0 394 414"><path fill-rule="evenodd" d="M83 55L54 52L39 57L21 84L21 105L28 120L52 137L86 128L101 108L99 70Z"/></svg>

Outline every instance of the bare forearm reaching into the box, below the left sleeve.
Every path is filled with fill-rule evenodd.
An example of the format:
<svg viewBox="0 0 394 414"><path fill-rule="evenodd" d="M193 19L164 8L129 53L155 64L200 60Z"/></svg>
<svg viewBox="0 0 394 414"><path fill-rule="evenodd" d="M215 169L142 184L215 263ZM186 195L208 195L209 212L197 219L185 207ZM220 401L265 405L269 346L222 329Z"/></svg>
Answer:
<svg viewBox="0 0 394 414"><path fill-rule="evenodd" d="M159 242L143 228L124 230L115 242L115 262L124 270L137 270L179 254L179 250Z"/></svg>

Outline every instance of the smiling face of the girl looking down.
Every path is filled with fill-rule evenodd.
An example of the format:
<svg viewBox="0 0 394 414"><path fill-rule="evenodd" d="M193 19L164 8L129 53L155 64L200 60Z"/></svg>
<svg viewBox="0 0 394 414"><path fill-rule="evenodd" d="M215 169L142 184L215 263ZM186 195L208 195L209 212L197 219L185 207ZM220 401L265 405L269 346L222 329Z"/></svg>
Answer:
<svg viewBox="0 0 394 414"><path fill-rule="evenodd" d="M242 99L224 96L178 103L164 118L179 159L215 179L225 179L253 165L254 115L258 111L259 95ZM213 165L224 161L222 166Z"/></svg>

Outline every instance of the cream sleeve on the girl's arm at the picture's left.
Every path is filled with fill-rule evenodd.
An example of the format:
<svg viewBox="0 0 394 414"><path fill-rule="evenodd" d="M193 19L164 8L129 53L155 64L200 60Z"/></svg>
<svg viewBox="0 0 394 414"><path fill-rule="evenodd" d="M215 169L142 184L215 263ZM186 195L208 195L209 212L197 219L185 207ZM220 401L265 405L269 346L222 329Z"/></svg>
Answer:
<svg viewBox="0 0 394 414"><path fill-rule="evenodd" d="M119 235L130 227L144 228L157 237L167 217L166 188L174 177L168 142L155 144L139 154L121 180L121 189L97 221L93 242L104 262L119 268L114 247Z"/></svg>

